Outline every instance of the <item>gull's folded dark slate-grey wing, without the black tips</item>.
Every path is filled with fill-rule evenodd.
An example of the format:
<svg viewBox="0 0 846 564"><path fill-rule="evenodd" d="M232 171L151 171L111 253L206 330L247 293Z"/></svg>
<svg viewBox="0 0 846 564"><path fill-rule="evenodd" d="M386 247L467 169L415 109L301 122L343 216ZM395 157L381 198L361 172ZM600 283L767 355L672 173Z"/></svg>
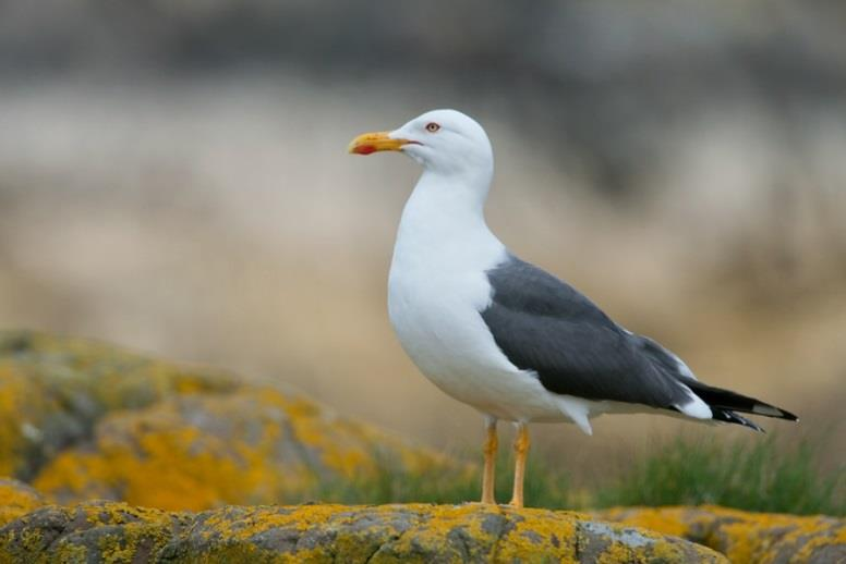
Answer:
<svg viewBox="0 0 846 564"><path fill-rule="evenodd" d="M690 402L685 385L643 354L638 335L569 284L516 257L487 278L492 303L481 314L494 340L551 392L664 408Z"/></svg>

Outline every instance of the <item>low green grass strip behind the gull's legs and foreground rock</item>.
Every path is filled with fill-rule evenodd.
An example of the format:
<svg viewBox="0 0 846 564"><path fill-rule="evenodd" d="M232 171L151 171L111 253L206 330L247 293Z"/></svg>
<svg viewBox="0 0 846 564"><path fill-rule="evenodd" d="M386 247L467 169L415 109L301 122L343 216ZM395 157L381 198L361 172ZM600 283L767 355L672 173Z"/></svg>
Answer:
<svg viewBox="0 0 846 564"><path fill-rule="evenodd" d="M599 508L614 505L711 503L797 515L846 515L846 468L822 473L821 445L785 446L774 437L720 441L675 439L634 461L617 479L590 489L570 486L567 474L530 456L525 503L533 507ZM378 474L355 482L324 483L313 496L338 503L459 503L480 495L480 474L467 468L408 475L385 458ZM499 457L497 500L510 499L511 461Z"/></svg>

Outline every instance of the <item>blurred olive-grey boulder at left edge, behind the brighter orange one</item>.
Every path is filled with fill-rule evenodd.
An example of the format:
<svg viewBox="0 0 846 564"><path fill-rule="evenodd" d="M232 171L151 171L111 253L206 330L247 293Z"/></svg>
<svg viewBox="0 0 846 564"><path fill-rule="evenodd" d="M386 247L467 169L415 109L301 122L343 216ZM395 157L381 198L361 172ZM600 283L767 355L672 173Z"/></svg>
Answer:
<svg viewBox="0 0 846 564"><path fill-rule="evenodd" d="M105 414L180 393L223 393L234 377L81 339L0 331L0 475L29 480L90 437Z"/></svg>

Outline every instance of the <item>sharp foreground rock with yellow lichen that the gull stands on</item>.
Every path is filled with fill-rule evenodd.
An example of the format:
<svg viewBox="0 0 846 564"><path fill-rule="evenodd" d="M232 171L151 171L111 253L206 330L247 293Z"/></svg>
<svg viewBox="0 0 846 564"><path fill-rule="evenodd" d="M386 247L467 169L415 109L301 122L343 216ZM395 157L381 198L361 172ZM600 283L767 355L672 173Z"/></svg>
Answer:
<svg viewBox="0 0 846 564"><path fill-rule="evenodd" d="M569 512L468 505L46 506L0 529L15 562L726 562L704 547Z"/></svg>

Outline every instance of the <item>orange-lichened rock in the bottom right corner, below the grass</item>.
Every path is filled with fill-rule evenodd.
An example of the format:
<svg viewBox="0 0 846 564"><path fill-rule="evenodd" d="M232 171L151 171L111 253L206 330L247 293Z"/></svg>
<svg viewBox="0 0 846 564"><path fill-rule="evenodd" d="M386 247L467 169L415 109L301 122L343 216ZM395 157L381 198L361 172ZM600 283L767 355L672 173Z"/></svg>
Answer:
<svg viewBox="0 0 846 564"><path fill-rule="evenodd" d="M717 506L632 507L594 516L704 544L735 564L846 562L846 519L750 513Z"/></svg>

